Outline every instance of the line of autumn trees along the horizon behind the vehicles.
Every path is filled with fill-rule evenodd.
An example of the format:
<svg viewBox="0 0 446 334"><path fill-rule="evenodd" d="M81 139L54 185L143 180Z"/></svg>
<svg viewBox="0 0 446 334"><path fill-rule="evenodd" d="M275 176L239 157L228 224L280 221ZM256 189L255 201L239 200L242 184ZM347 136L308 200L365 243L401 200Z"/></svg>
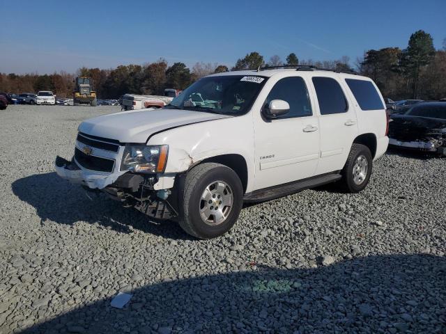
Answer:
<svg viewBox="0 0 446 334"><path fill-rule="evenodd" d="M355 64L347 56L335 61L300 60L295 53L282 61L274 55L265 61L259 52L251 52L238 59L231 70L254 70L265 66L314 65L337 71L355 71L371 77L383 93L394 100L420 98L438 100L446 97L446 39L443 49L433 47L429 33L416 31L406 49L385 47L369 49ZM211 73L227 72L226 65L196 63L192 68L178 62L169 66L163 58L144 65L119 65L114 69L81 67L77 73L54 74L0 73L0 91L31 93L52 90L60 97L68 97L74 88L73 79L80 75L93 78L100 98L117 98L125 93L162 95L164 88L185 89L197 79Z"/></svg>

